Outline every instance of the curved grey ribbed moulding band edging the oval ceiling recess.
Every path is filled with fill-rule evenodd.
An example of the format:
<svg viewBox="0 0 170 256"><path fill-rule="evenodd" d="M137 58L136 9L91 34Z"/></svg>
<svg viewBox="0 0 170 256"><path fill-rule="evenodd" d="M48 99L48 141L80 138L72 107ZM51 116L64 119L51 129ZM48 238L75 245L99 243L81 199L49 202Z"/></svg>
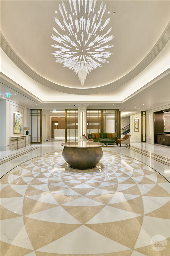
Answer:
<svg viewBox="0 0 170 256"><path fill-rule="evenodd" d="M70 88L61 86L58 84L55 84L42 76L40 76L38 73L36 73L34 70L32 70L26 63L13 51L11 46L8 44L2 33L0 33L0 47L3 49L3 51L7 54L7 56L28 76L30 76L32 79L34 79L36 82L59 92L68 93L68 94L81 94L81 95L87 95L87 94L97 94L97 93L103 93L109 90L112 90L118 86L121 86L125 83L127 83L129 80L134 78L136 75L138 75L143 69L145 69L152 60L160 53L160 51L164 48L164 46L167 44L167 42L170 40L170 22L168 23L166 29L162 33L161 37L157 41L157 43L154 45L154 47L151 49L151 51L147 54L147 56L134 68L132 69L128 74L123 76L122 78L96 88L88 88L88 89L77 89L77 88Z"/></svg>

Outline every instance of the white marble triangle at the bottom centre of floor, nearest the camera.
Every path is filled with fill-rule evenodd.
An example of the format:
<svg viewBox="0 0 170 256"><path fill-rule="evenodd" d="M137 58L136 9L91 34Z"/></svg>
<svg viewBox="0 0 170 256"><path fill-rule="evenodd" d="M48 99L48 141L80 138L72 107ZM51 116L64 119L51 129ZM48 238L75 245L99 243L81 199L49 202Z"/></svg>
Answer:
<svg viewBox="0 0 170 256"><path fill-rule="evenodd" d="M92 243L93 241L93 243ZM67 246L65 246L67 245ZM119 244L92 229L82 225L58 240L36 250L56 254L104 254L130 250L130 248Z"/></svg>

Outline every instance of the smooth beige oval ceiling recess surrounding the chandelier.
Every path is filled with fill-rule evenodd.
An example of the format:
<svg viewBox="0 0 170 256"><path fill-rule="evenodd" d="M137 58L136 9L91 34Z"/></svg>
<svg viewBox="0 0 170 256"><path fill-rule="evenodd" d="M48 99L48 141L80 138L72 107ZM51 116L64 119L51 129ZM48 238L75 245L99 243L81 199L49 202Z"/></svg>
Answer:
<svg viewBox="0 0 170 256"><path fill-rule="evenodd" d="M96 12L102 1L97 0ZM114 82L132 70L152 49L169 22L170 1L103 1L111 16L114 52L87 76L84 88L98 87ZM68 0L64 1L67 6ZM1 0L1 32L18 56L42 77L59 85L80 88L74 71L55 63L51 54L55 34L54 15L62 1ZM108 14L104 17L106 20ZM60 16L58 16L60 18ZM111 33L111 34L112 34Z"/></svg>

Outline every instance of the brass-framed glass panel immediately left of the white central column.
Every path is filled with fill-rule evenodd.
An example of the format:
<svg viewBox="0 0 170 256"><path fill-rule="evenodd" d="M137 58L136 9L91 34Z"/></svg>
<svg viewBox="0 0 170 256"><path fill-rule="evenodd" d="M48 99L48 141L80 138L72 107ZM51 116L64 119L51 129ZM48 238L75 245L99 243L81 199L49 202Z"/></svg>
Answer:
<svg viewBox="0 0 170 256"><path fill-rule="evenodd" d="M78 109L66 110L66 136L65 141L78 141Z"/></svg>

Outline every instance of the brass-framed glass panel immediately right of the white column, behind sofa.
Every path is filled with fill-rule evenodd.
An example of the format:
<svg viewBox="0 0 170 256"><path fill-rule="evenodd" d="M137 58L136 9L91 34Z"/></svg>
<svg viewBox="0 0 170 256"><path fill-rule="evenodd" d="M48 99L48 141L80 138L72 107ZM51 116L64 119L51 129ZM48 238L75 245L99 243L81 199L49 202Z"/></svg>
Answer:
<svg viewBox="0 0 170 256"><path fill-rule="evenodd" d="M93 132L101 132L101 110L87 110L87 137Z"/></svg>

